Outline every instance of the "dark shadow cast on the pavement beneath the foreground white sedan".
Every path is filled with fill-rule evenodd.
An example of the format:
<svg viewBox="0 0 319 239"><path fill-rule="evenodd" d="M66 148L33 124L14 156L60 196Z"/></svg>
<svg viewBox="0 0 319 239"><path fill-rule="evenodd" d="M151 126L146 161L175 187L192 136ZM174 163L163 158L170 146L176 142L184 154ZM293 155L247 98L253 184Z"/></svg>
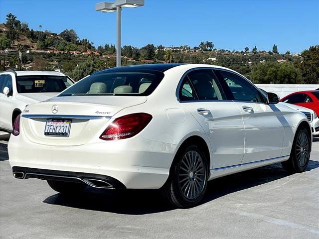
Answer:
<svg viewBox="0 0 319 239"><path fill-rule="evenodd" d="M318 168L319 162L310 160L307 171ZM208 183L201 204L237 191L275 181L291 174L280 163L236 173ZM60 193L46 198L44 203L117 214L144 215L174 210L159 190L99 190L88 187L81 195Z"/></svg>

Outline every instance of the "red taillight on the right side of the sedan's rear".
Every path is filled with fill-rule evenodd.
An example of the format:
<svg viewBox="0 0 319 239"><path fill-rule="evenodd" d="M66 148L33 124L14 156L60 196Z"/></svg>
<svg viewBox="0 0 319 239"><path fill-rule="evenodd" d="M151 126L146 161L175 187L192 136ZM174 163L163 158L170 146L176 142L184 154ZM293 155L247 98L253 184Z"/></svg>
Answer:
<svg viewBox="0 0 319 239"><path fill-rule="evenodd" d="M142 131L151 121L152 116L136 113L115 119L101 134L104 140L130 138Z"/></svg>

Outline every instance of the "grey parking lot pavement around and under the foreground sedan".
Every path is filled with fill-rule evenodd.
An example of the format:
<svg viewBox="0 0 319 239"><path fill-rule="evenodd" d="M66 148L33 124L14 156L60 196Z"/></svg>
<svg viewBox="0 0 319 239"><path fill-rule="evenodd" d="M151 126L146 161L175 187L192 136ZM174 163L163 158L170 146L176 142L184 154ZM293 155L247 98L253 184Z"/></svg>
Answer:
<svg viewBox="0 0 319 239"><path fill-rule="evenodd" d="M1 135L0 140L4 138ZM158 191L87 188L65 197L14 179L0 141L1 239L319 239L319 138L306 172L274 164L213 180L201 205L173 209Z"/></svg>

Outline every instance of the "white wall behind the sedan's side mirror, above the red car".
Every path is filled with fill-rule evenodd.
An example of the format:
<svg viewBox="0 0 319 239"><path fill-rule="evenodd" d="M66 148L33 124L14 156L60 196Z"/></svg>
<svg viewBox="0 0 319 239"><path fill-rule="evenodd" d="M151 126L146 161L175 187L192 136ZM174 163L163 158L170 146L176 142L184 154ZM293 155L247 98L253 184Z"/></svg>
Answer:
<svg viewBox="0 0 319 239"><path fill-rule="evenodd" d="M313 84L313 85L255 84L255 85L258 88L263 89L264 91L277 94L280 98L284 98L285 96L297 91L309 91L309 90L316 90L319 88L319 84Z"/></svg>

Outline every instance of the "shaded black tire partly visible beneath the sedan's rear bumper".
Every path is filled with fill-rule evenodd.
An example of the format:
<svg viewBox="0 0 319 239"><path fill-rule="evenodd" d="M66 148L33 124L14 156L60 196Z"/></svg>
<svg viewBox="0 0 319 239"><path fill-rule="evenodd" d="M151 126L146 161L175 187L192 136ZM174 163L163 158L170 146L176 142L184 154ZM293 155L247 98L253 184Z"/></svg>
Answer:
<svg viewBox="0 0 319 239"><path fill-rule="evenodd" d="M54 181L54 180L46 180L49 186L63 194L75 194L81 193L87 187L84 183L72 183L72 182L63 182L63 181Z"/></svg>

